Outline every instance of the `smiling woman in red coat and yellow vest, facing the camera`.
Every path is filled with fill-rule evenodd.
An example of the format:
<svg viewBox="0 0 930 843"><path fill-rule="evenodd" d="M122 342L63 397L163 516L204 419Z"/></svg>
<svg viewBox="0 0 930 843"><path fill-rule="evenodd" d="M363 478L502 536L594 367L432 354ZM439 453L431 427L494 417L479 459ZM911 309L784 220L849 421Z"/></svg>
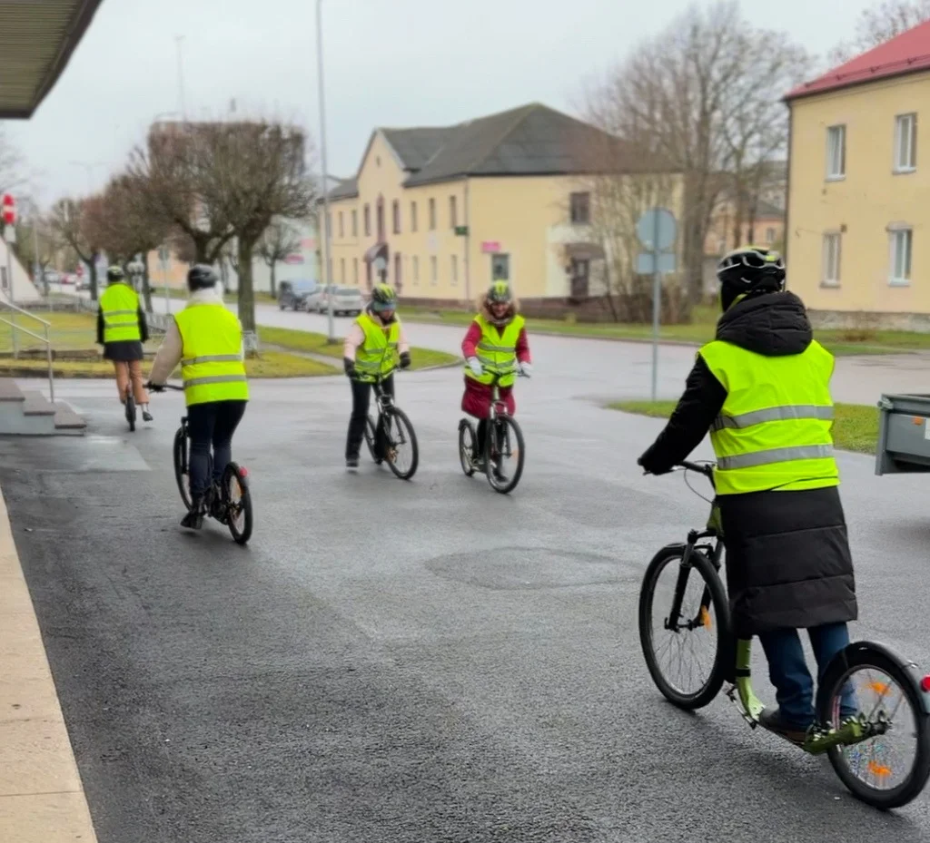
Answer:
<svg viewBox="0 0 930 843"><path fill-rule="evenodd" d="M513 400L513 381L516 373L529 377L533 371L529 341L526 338L525 319L517 312L519 302L513 296L511 285L495 281L478 301L478 314L462 340L465 358L465 392L462 395L462 412L478 419L474 460L479 468L485 454L487 416L494 396L494 375L510 372L498 381L500 400L507 412L516 413Z"/></svg>

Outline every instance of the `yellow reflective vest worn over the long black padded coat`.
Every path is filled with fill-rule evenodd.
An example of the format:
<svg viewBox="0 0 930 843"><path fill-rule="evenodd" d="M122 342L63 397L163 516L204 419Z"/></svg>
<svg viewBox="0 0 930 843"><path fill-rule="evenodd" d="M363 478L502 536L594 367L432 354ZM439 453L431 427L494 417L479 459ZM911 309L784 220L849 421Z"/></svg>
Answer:
<svg viewBox="0 0 930 843"><path fill-rule="evenodd" d="M829 351L812 342L800 354L766 357L714 340L698 353L726 390L711 427L717 494L839 483Z"/></svg>

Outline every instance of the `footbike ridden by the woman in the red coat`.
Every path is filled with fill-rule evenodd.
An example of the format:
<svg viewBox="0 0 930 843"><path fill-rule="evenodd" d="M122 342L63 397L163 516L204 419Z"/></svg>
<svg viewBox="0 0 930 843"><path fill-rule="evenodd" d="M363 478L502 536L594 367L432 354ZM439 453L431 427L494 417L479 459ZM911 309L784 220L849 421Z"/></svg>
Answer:
<svg viewBox="0 0 930 843"><path fill-rule="evenodd" d="M486 370L485 370L486 371ZM490 373L493 375L491 381L492 397L491 407L487 416L487 433L485 435L484 468L487 481L491 488L500 494L509 494L520 482L523 476L523 467L525 460L525 444L523 430L517 424L517 420L509 413L507 403L500 399L500 379L506 375L516 374L518 377L526 377L518 369L502 369L498 372ZM501 457L512 457L514 449L511 442L511 431L513 439L516 441L516 470L512 477L508 478L502 471ZM478 434L472 422L463 418L458 422L458 460L461 463L462 471L466 477L472 477L478 469L479 454Z"/></svg>

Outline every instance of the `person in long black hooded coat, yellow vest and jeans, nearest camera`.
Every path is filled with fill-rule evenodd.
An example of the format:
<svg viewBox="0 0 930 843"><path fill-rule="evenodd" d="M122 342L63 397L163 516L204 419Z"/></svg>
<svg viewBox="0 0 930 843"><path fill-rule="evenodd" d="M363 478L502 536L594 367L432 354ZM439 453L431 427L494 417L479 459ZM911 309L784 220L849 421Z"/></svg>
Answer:
<svg viewBox="0 0 930 843"><path fill-rule="evenodd" d="M697 352L684 395L639 458L661 474L710 430L715 504L738 638L759 636L778 708L763 725L803 743L814 683L798 629L822 671L857 618L853 560L833 457L833 357L814 339L804 302L786 292L777 252L746 246L717 268L724 314ZM841 717L855 715L847 688Z"/></svg>

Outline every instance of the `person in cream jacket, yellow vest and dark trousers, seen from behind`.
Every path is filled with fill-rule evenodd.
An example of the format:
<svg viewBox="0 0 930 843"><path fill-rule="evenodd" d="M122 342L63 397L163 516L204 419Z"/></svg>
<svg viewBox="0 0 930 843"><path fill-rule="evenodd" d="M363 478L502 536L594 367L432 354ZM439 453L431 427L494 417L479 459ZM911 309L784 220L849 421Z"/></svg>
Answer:
<svg viewBox="0 0 930 843"><path fill-rule="evenodd" d="M233 433L246 413L248 382L242 326L223 302L217 273L208 266L194 266L187 273L187 286L191 297L166 331L149 380L154 391L162 391L180 363L191 436L193 503L181 526L199 530L210 483L219 484L223 470L233 459Z"/></svg>

